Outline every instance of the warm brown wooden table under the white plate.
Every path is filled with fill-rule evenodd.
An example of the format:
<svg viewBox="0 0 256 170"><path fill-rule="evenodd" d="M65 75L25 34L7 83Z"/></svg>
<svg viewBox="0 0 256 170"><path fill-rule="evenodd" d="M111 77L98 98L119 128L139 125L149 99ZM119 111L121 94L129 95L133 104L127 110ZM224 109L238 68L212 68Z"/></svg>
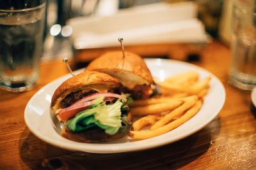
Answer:
<svg viewBox="0 0 256 170"><path fill-rule="evenodd" d="M37 90L67 74L61 61L45 62L35 89L0 91L0 169L256 169L256 120L250 92L228 85L230 50L213 42L193 62L225 85L225 106L201 131L170 145L115 154L70 152L36 138L24 123L24 108ZM74 65L74 64L73 64Z"/></svg>

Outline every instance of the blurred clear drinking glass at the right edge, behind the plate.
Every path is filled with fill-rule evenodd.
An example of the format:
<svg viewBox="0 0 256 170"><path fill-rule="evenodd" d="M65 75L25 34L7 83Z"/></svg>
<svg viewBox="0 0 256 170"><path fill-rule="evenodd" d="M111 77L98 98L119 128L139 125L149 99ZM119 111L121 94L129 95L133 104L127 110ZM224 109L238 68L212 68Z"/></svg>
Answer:
<svg viewBox="0 0 256 170"><path fill-rule="evenodd" d="M233 9L230 83L243 90L256 86L256 1L236 0Z"/></svg>

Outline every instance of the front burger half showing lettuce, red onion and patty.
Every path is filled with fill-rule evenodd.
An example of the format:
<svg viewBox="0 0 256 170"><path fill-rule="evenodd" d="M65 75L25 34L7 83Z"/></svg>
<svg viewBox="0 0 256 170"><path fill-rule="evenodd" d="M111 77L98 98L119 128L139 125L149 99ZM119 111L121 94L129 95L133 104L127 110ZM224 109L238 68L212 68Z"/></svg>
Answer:
<svg viewBox="0 0 256 170"><path fill-rule="evenodd" d="M64 81L54 92L51 109L64 127L61 136L79 142L122 138L131 129L121 83L109 74L84 71Z"/></svg>

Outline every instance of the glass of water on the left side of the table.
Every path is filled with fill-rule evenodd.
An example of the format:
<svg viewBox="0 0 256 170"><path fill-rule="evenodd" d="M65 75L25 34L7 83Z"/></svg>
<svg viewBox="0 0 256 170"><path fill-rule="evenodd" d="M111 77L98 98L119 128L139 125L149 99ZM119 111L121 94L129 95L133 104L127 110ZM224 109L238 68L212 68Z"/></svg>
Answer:
<svg viewBox="0 0 256 170"><path fill-rule="evenodd" d="M38 80L46 0L0 3L0 88L29 90Z"/></svg>

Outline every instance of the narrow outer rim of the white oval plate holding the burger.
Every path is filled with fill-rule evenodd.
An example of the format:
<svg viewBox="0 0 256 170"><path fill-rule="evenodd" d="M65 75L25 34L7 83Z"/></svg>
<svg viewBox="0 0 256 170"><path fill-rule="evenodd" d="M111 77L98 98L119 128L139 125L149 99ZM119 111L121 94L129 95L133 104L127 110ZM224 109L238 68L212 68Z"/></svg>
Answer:
<svg viewBox="0 0 256 170"><path fill-rule="evenodd" d="M102 147L95 147L93 149L90 149L90 148L77 148L76 146L74 146L75 144L77 145L81 145L81 144L84 144L84 145L92 145L92 143L79 143L79 142L76 142L76 141L72 141L72 145L58 145L58 143L56 143L56 141L52 138L50 138L49 136L44 136L43 134L40 134L40 132L37 132L36 129L33 129L33 127L31 127L31 124L29 124L29 120L28 120L28 107L29 107L29 104L31 104L31 102L33 101L33 99L36 97L36 95L38 95L38 93L40 92L40 90L42 89L45 89L46 87L48 87L49 85L51 84L54 84L56 83L56 81L60 81L61 79L65 78L67 76L68 78L68 74L65 74L64 76L61 76L60 78L57 78L56 80L53 80L51 81L50 83L47 83L46 85L44 85L44 87L42 87L40 90L38 90L32 97L31 99L29 99L29 102L28 104L26 105L26 108L24 110L24 120L26 122L26 125L28 126L29 130L35 134L36 137L38 137L39 139L41 139L42 141L45 141L46 143L49 143L53 146L56 146L58 148L65 148L67 150L75 150L75 151L82 151L82 152L90 152L90 153L121 153L121 152L133 152L133 151L139 151L139 150L146 150L146 149L150 149L150 148L155 148L157 146L163 146L163 145L166 145L168 143L173 143L175 141L179 141L180 139L183 139L183 138L186 138L188 136L190 136L191 134L194 134L195 132L197 131L200 131L200 129L202 129L203 127L205 127L205 125L209 124L209 122L211 122L221 111L221 108L223 108L223 105L225 104L225 99L226 99L226 92L225 92L225 87L223 85L223 83L221 83L221 81L219 80L218 77L216 77L214 74L212 74L210 71L207 71L206 69L200 67L200 66L196 66L194 64L191 64L191 63L188 63L188 62L182 62L182 61L179 61L179 60L170 60L170 59L145 59L145 62L147 64L147 62L150 62L150 61L160 61L160 62L177 62L179 64L182 64L182 65L188 65L188 66L191 66L191 67L196 67L197 69L200 69L202 71L204 71L205 73L207 74L211 74L212 78L214 78L217 82L218 82L218 85L220 85L221 87L221 93L223 95L221 101L220 101L220 105L218 106L218 108L216 109L216 113L212 114L210 118L207 119L207 121L205 122L202 122L202 124L198 125L196 128L192 129L193 131L189 131L187 132L185 135L183 134L180 134L179 136L176 136L176 138L174 140L164 140L164 141L161 141L161 142L158 142L158 143L151 143L151 145L142 145L140 147L135 147L134 148L130 148L129 146L122 146L122 149L116 147L116 148L111 148L111 149L103 149L102 150ZM77 70L76 72L79 72L81 71L82 69L79 69ZM26 114L27 113L27 114ZM54 131L55 132L55 131ZM167 134L167 133L166 133ZM154 138L157 138L159 136L156 136ZM63 138L63 137L62 137ZM68 140L68 139L67 139ZM68 140L70 141L70 140ZM139 141L145 141L145 139L143 140L139 140ZM111 144L104 144L104 143L93 143L93 145L95 146L99 146L99 145L116 145L115 143L111 143Z"/></svg>

